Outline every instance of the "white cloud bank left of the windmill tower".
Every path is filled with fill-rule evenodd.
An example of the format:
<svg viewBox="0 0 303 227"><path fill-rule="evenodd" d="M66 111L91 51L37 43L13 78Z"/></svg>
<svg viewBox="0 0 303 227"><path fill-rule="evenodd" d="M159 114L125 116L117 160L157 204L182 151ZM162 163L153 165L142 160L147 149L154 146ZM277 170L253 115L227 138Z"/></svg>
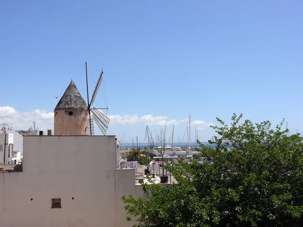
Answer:
<svg viewBox="0 0 303 227"><path fill-rule="evenodd" d="M11 124L15 130L28 130L33 121L40 130L54 128L54 112L45 109L18 112L11 106L0 106L0 123Z"/></svg>

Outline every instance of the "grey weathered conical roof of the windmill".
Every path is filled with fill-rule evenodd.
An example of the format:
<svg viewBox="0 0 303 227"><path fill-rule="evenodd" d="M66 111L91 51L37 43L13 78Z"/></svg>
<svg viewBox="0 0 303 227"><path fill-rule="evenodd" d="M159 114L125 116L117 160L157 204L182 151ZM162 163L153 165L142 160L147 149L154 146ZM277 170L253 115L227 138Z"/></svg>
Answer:
<svg viewBox="0 0 303 227"><path fill-rule="evenodd" d="M68 85L63 96L59 100L55 109L65 109L65 108L87 108L86 102L82 98L80 92L78 91L74 81Z"/></svg>

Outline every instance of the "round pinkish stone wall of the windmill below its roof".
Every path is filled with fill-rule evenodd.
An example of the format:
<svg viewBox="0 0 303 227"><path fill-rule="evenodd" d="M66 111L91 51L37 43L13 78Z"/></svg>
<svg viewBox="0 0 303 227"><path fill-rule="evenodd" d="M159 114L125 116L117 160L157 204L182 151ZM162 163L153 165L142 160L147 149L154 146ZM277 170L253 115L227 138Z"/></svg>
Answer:
<svg viewBox="0 0 303 227"><path fill-rule="evenodd" d="M55 109L54 135L88 135L88 113L86 108Z"/></svg>

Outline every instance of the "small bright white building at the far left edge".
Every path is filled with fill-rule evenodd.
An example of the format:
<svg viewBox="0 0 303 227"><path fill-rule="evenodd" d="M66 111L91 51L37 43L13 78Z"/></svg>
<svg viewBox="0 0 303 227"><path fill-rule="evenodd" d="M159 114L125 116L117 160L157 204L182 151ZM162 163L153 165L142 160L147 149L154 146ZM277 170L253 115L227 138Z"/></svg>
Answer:
<svg viewBox="0 0 303 227"><path fill-rule="evenodd" d="M0 124L0 164L18 164L23 153L23 136L8 124Z"/></svg>

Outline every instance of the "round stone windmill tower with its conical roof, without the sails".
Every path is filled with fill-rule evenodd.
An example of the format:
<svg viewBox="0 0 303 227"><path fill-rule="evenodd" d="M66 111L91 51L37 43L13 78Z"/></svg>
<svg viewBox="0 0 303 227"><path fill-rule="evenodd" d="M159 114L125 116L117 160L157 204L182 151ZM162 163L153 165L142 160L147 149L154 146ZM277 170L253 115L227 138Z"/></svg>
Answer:
<svg viewBox="0 0 303 227"><path fill-rule="evenodd" d="M73 80L54 112L54 135L88 135L87 105Z"/></svg>

